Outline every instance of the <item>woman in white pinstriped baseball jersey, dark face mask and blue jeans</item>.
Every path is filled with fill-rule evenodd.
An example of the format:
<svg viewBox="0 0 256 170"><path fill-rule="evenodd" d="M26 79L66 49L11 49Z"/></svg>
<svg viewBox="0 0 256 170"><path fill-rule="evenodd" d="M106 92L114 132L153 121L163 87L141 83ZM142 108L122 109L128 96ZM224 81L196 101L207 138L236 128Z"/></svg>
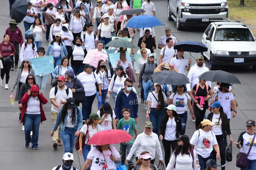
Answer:
<svg viewBox="0 0 256 170"><path fill-rule="evenodd" d="M105 103L105 101L106 101L106 95L108 93L109 83L110 83L110 80L111 80L110 71L107 69L104 60L99 60L98 67L95 70L95 73L99 76L100 80L102 81L102 84L101 84L102 95L99 96L99 92L96 93L97 101L98 101L98 110L99 110L102 103Z"/></svg>

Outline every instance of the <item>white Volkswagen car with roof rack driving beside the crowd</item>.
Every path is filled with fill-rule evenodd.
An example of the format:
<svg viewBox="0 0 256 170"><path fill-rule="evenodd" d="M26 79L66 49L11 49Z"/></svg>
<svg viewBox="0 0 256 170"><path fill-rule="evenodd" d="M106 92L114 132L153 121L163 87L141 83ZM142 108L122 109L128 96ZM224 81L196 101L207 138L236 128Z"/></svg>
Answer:
<svg viewBox="0 0 256 170"><path fill-rule="evenodd" d="M256 42L245 24L212 22L202 36L202 43L208 47L203 55L209 59L211 70L216 70L218 65L250 65L256 70Z"/></svg>

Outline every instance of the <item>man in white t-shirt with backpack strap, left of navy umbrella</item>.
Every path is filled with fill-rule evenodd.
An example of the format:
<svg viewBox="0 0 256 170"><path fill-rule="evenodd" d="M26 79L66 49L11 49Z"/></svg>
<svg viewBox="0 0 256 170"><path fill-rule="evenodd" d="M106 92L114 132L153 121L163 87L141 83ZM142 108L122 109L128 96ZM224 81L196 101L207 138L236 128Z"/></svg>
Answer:
<svg viewBox="0 0 256 170"><path fill-rule="evenodd" d="M161 49L159 56L159 64L169 63L171 59L175 56L175 50L173 48L173 40L172 38L166 39L167 46Z"/></svg>

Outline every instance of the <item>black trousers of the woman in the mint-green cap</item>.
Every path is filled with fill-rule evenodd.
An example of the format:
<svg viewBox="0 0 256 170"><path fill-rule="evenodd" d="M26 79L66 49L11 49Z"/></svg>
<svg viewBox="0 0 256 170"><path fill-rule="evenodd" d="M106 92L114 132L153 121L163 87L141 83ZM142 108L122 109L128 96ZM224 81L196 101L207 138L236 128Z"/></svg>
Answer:
<svg viewBox="0 0 256 170"><path fill-rule="evenodd" d="M177 140L162 140L163 146L164 146L164 163L167 167L170 156L171 156L171 150L172 152L175 150L175 148L178 146Z"/></svg>

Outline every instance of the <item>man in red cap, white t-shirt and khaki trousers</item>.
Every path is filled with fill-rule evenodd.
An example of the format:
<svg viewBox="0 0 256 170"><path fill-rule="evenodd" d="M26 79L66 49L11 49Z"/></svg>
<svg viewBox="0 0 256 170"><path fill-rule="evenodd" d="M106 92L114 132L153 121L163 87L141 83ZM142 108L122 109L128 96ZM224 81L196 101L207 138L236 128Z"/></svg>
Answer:
<svg viewBox="0 0 256 170"><path fill-rule="evenodd" d="M63 105L67 102L68 98L73 97L71 89L67 88L67 86L65 86L65 83L66 83L65 77L59 76L58 85L56 87L53 87L50 91L49 98L52 103L52 108L51 108L52 126L54 126L56 122L56 118L58 116L60 108L63 107ZM55 91L56 89L57 89L57 92ZM62 145L60 132L61 132L61 127L58 126L56 132L52 137L54 150L58 149L57 146Z"/></svg>

